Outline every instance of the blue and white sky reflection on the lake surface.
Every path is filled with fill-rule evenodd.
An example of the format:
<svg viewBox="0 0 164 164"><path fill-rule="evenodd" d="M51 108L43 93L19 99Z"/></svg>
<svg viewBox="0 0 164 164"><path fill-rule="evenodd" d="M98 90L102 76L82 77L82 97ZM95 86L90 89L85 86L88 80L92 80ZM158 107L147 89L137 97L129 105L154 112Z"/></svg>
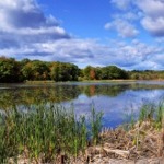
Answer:
<svg viewBox="0 0 164 164"><path fill-rule="evenodd" d="M163 99L164 90L127 90L116 97L95 95L79 96L73 101L78 114L89 114L91 105L104 113L104 126L116 127L122 124L131 114L137 115L145 102L160 102Z"/></svg>

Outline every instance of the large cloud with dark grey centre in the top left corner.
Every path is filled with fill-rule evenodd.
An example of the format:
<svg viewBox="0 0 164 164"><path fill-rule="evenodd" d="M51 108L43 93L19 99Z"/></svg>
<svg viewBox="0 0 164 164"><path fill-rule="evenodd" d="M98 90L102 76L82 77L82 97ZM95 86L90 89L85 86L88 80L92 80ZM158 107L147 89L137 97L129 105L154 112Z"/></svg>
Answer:
<svg viewBox="0 0 164 164"><path fill-rule="evenodd" d="M35 0L1 1L0 22L1 49L70 38L52 15L45 16Z"/></svg>

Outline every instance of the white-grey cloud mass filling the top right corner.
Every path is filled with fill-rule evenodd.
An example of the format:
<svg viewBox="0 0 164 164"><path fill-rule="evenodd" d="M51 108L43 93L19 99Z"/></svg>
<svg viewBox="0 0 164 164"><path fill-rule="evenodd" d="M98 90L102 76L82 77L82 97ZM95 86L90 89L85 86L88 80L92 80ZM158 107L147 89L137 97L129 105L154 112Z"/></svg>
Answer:
<svg viewBox="0 0 164 164"><path fill-rule="evenodd" d="M151 35L164 36L164 0L112 0L110 3L122 9L117 19L140 20L142 27Z"/></svg>

